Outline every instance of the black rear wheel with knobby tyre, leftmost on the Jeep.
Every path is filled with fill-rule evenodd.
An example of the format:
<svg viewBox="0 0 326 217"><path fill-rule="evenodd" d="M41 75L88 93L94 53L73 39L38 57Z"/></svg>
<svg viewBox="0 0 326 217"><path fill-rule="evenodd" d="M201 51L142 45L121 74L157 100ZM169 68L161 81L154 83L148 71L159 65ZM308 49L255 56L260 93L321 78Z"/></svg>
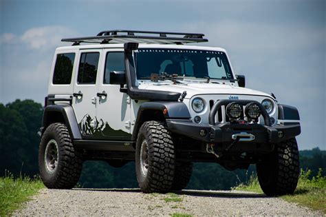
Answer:
<svg viewBox="0 0 326 217"><path fill-rule="evenodd" d="M82 167L82 154L74 149L67 127L63 123L49 125L39 147L39 169L44 185L71 189L78 182Z"/></svg>

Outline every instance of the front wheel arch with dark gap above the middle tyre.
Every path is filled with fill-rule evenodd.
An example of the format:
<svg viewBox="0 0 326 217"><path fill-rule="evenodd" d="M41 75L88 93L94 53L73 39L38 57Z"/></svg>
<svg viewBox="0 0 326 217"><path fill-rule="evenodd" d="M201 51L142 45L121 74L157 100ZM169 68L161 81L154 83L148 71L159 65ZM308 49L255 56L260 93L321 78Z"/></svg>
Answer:
<svg viewBox="0 0 326 217"><path fill-rule="evenodd" d="M145 102L140 105L131 139L137 139L138 131L146 121L166 121L166 119L190 119L188 107L183 102Z"/></svg>

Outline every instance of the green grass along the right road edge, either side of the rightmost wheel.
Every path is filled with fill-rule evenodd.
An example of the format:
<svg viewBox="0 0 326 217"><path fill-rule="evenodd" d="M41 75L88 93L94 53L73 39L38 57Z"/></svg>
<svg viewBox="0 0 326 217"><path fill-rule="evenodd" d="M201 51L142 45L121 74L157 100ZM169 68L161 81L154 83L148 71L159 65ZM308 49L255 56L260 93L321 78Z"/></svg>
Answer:
<svg viewBox="0 0 326 217"><path fill-rule="evenodd" d="M294 194L281 196L284 200L297 203L314 210L322 211L326 214L326 176L322 176L322 170L319 169L318 175L309 178L310 170L301 169L300 178ZM259 186L258 178L254 174L250 176L247 184L240 184L233 189L248 192L263 193Z"/></svg>

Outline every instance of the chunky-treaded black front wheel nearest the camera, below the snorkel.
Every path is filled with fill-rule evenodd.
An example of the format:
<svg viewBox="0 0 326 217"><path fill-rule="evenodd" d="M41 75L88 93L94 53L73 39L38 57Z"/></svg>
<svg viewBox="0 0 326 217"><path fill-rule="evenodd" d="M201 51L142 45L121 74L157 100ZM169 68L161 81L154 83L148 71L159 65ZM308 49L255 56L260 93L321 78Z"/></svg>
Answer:
<svg viewBox="0 0 326 217"><path fill-rule="evenodd" d="M145 122L138 132L135 170L142 192L168 192L175 174L175 148L164 123Z"/></svg>

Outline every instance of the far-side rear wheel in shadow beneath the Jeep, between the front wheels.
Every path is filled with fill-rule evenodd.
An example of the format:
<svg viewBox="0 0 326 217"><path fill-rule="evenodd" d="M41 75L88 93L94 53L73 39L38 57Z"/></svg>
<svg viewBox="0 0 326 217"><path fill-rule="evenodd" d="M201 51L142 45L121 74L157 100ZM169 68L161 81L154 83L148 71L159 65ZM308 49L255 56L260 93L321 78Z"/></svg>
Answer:
<svg viewBox="0 0 326 217"><path fill-rule="evenodd" d="M191 179L191 174L193 174L193 162L177 162L171 189L175 191L185 189Z"/></svg>

